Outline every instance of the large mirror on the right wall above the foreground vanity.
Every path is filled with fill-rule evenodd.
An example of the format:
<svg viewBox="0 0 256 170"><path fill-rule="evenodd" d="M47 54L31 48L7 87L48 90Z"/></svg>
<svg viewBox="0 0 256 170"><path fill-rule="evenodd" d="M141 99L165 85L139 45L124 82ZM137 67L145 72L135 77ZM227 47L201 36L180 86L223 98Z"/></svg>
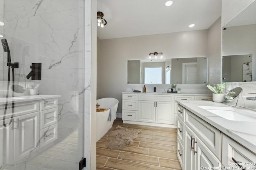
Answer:
<svg viewBox="0 0 256 170"><path fill-rule="evenodd" d="M222 82L256 81L256 1L222 30Z"/></svg>

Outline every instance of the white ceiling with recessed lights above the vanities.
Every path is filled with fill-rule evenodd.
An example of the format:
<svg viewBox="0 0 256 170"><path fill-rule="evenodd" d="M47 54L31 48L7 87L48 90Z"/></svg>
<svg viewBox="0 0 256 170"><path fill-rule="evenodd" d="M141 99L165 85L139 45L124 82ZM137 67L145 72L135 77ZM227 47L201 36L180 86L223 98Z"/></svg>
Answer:
<svg viewBox="0 0 256 170"><path fill-rule="evenodd" d="M107 25L97 37L112 39L208 29L221 16L221 0L97 0ZM97 15L95 14L95 17ZM191 23L196 26L190 28ZM95 23L96 24L96 23Z"/></svg>

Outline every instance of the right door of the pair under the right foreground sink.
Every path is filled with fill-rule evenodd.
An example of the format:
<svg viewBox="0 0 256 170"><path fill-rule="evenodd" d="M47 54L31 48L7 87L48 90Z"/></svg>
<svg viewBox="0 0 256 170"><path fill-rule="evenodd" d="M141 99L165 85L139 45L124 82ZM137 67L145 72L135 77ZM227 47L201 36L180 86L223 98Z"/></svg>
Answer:
<svg viewBox="0 0 256 170"><path fill-rule="evenodd" d="M196 139L195 143L195 153L196 157L196 170L208 169L208 168L221 168L221 163L214 154L212 154L209 149L202 143L202 141Z"/></svg>

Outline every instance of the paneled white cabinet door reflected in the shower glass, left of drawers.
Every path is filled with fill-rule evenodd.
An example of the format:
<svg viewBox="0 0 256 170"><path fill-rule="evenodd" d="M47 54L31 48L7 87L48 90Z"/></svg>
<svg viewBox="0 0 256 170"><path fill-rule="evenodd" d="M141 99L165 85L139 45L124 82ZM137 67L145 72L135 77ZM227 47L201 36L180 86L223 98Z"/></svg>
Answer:
<svg viewBox="0 0 256 170"><path fill-rule="evenodd" d="M39 112L14 118L14 157L18 161L37 149L40 129Z"/></svg>

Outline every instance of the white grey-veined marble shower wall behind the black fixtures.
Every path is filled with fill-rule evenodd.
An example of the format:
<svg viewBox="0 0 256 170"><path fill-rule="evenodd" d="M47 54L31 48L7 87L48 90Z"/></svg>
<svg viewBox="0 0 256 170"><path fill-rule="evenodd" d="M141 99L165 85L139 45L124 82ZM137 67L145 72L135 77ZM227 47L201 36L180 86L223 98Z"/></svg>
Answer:
<svg viewBox="0 0 256 170"><path fill-rule="evenodd" d="M82 128L84 0L0 1L4 2L4 38L10 47L12 63L19 63L15 80L40 84L39 94L61 95L58 104L58 141L61 141ZM31 63L42 63L42 80L26 79ZM5 62L1 63L2 68L0 80L7 80Z"/></svg>

